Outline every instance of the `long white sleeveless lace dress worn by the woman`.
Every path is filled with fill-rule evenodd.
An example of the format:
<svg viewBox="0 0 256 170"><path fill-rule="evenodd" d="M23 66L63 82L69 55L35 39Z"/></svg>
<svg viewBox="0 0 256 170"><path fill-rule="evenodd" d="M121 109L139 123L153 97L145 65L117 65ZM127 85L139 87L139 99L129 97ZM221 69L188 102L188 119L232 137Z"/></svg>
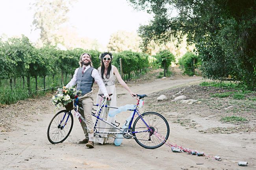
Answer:
<svg viewBox="0 0 256 170"><path fill-rule="evenodd" d="M100 72L101 68L99 68L99 72ZM111 67L111 71L110 71L110 75L109 75L109 78L106 79L105 75L104 75L104 79L103 79L103 82L106 86L106 89L108 91L109 94L113 94L110 96L111 100L109 101L109 106L114 106L116 107L117 106L117 93L116 93L116 90L115 90L115 75L114 75L114 72L113 72L113 67ZM101 77L101 73L100 73L100 77ZM98 94L102 93L100 90L98 91ZM97 95L97 100L96 100L96 103L99 104L100 103L100 96ZM108 104L107 104L108 105ZM109 110L108 110L109 109ZM106 108L105 109L105 112L104 114L103 113L100 113L100 117L104 120L106 120L107 122L109 123L113 123L113 124L116 124L115 123L115 120L116 120L116 116L114 117L109 117L108 116L108 112L110 110L112 110L113 108ZM100 132L117 132L116 129L113 129L112 126L106 124L105 122L103 121L98 121L97 123L97 126L96 126L97 130L100 131ZM109 129L111 128L111 129ZM117 134L104 134L104 133L101 133L100 134L102 137L94 137L94 142L98 142L98 143L106 143L106 140L108 137L117 137Z"/></svg>

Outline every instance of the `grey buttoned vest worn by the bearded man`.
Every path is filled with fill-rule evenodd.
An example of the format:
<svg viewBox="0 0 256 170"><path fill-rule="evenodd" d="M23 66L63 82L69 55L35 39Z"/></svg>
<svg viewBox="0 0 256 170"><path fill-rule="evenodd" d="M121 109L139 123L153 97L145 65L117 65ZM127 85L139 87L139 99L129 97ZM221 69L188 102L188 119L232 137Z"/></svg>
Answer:
<svg viewBox="0 0 256 170"><path fill-rule="evenodd" d="M82 91L82 95L89 93L91 91L91 87L93 87L94 78L91 77L91 73L93 72L93 67L90 67L82 74L82 67L78 69L76 79L76 89Z"/></svg>

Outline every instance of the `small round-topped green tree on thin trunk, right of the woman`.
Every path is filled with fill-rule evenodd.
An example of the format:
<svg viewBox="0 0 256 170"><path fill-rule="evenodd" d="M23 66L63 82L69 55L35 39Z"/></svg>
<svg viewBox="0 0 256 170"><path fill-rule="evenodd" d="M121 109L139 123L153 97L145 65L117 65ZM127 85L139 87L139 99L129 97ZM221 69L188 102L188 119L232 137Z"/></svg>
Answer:
<svg viewBox="0 0 256 170"><path fill-rule="evenodd" d="M156 59L161 68L163 68L163 76L166 77L167 68L171 65L171 62L175 62L173 53L169 50L163 50L156 54Z"/></svg>

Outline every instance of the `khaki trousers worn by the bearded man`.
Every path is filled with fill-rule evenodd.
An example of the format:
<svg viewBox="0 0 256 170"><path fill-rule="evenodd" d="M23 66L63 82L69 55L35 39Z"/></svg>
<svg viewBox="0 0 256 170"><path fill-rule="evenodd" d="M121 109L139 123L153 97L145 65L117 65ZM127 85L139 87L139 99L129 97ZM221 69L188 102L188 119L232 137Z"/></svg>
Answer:
<svg viewBox="0 0 256 170"><path fill-rule="evenodd" d="M85 122L80 121L80 124L83 128L83 133L85 135L85 139L89 139L89 141L93 141L94 124L93 124L93 119L91 117L91 112L93 108L93 97L91 95L91 92L86 93L85 95L78 95L78 102L79 102L79 105L82 104L83 106L83 110L79 109L78 112L85 119Z"/></svg>

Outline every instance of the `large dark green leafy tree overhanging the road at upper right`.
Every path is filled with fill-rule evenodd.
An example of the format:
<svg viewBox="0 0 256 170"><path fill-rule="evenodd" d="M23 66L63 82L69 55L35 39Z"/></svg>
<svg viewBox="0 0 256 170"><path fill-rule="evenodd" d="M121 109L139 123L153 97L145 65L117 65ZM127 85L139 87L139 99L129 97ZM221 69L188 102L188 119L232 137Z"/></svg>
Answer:
<svg viewBox="0 0 256 170"><path fill-rule="evenodd" d="M202 75L231 75L248 88L256 85L255 0L129 0L136 9L154 15L139 27L143 46L181 40L187 35L202 59Z"/></svg>

